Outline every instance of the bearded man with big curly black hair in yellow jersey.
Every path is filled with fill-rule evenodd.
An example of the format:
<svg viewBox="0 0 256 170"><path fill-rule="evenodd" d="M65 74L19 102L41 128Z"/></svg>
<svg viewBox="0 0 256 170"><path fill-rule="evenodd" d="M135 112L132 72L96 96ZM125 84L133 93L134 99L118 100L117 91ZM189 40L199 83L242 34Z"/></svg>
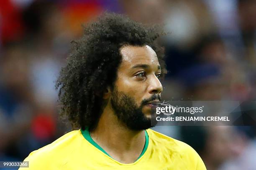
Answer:
<svg viewBox="0 0 256 170"><path fill-rule="evenodd" d="M30 169L206 169L189 145L148 129L166 73L161 34L117 14L85 28L57 81L61 113L79 130L32 152Z"/></svg>

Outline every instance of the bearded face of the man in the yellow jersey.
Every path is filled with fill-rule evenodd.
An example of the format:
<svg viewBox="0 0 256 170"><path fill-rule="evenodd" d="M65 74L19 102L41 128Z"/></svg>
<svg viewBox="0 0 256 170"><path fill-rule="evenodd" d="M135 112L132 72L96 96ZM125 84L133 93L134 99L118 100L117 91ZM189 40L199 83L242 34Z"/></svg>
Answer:
<svg viewBox="0 0 256 170"><path fill-rule="evenodd" d="M161 67L156 52L145 45L123 46L123 60L111 93L115 115L131 130L151 128L151 104L161 100Z"/></svg>

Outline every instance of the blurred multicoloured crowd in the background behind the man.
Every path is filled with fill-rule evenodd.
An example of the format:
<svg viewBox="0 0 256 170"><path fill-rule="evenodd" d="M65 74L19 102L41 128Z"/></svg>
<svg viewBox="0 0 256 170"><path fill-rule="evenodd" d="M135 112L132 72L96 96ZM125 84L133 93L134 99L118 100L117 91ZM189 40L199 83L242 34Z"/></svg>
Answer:
<svg viewBox="0 0 256 170"><path fill-rule="evenodd" d="M54 85L70 41L104 11L163 24L163 100L256 99L256 0L1 0L0 161L71 130ZM191 145L207 170L255 170L256 128L154 128Z"/></svg>

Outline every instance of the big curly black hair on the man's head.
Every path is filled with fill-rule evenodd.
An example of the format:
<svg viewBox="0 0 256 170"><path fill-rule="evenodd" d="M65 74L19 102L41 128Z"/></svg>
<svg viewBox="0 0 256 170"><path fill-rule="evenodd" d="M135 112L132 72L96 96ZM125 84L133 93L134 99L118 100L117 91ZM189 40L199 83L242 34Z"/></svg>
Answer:
<svg viewBox="0 0 256 170"><path fill-rule="evenodd" d="M56 82L61 117L67 117L73 129L95 128L104 105L103 92L114 87L123 45L149 45L157 54L162 73L166 73L164 51L156 43L163 34L159 25L142 25L114 13L104 13L85 26L83 36L71 42L67 66Z"/></svg>

